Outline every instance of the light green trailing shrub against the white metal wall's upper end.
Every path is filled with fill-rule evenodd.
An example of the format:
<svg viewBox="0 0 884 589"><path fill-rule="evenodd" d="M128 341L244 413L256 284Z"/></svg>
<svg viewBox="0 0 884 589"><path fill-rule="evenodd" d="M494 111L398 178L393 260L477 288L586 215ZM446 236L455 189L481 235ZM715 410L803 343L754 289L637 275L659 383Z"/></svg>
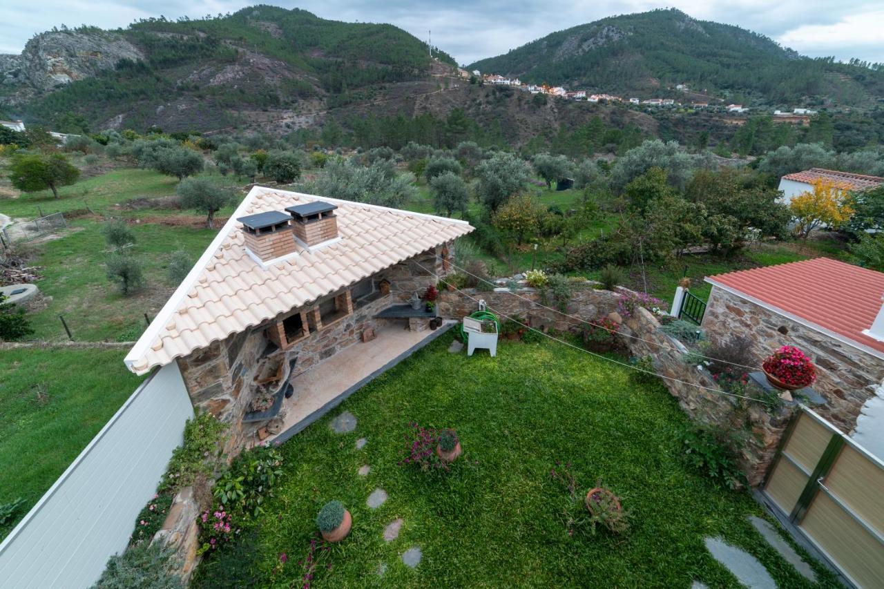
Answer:
<svg viewBox="0 0 884 589"><path fill-rule="evenodd" d="M194 483L198 474L212 477L221 455L221 441L227 426L211 413L187 420L184 426L184 443L172 450L159 493L174 493L181 487Z"/></svg>

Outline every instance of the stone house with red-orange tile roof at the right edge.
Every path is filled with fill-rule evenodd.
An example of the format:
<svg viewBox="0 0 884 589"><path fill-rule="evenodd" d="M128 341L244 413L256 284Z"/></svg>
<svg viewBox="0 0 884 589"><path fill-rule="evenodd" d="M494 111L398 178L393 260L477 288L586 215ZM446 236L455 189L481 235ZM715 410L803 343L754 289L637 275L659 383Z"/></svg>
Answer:
<svg viewBox="0 0 884 589"><path fill-rule="evenodd" d="M884 383L884 273L818 257L705 281L713 288L702 327L713 339L744 336L758 365L780 346L801 348L826 399L815 410L844 432L884 432L884 414L857 426L861 410L882 401L872 400ZM878 450L884 455L884 437Z"/></svg>

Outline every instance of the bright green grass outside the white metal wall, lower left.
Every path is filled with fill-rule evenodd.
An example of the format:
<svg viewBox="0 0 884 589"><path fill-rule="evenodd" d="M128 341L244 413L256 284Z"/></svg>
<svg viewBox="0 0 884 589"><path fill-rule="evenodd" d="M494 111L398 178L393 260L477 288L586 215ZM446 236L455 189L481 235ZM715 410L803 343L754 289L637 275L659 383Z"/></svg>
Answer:
<svg viewBox="0 0 884 589"><path fill-rule="evenodd" d="M0 352L0 503L25 502L0 539L40 499L141 382L119 349ZM45 394L38 399L38 391Z"/></svg>

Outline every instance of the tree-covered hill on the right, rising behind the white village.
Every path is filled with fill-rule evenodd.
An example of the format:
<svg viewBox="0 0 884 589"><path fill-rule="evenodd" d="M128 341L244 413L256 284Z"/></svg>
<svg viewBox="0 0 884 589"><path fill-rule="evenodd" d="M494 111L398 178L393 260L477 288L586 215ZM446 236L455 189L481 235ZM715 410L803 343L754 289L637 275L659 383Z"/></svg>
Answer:
<svg viewBox="0 0 884 589"><path fill-rule="evenodd" d="M689 84L744 102L872 106L884 92L880 64L803 57L764 35L674 9L568 28L469 69L612 93Z"/></svg>

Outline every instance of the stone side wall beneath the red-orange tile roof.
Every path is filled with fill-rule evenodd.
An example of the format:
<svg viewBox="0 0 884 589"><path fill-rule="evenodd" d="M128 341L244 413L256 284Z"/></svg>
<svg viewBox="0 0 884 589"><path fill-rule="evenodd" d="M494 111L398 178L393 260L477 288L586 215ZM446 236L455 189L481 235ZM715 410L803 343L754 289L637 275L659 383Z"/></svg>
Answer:
<svg viewBox="0 0 884 589"><path fill-rule="evenodd" d="M814 410L842 432L856 427L863 404L884 382L884 360L719 287L713 287L703 329L718 340L731 334L749 336L759 365L776 348L800 348L817 366L813 389L826 399L825 406Z"/></svg>

